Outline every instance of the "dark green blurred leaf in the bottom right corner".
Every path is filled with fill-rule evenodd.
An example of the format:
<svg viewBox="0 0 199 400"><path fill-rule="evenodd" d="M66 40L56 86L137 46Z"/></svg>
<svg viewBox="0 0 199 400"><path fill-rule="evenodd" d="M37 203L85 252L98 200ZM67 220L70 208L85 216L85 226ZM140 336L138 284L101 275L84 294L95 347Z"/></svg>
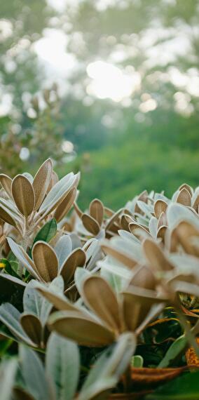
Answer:
<svg viewBox="0 0 199 400"><path fill-rule="evenodd" d="M146 396L147 400L198 400L199 372L186 373Z"/></svg>

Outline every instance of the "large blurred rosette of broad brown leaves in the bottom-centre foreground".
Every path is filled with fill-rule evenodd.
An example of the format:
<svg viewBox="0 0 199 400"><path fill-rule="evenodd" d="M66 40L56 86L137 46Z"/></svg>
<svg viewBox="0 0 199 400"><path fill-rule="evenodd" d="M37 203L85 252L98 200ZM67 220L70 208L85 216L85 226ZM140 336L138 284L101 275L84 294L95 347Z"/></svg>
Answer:
<svg viewBox="0 0 199 400"><path fill-rule="evenodd" d="M137 333L144 326L144 321L153 319L163 307L164 298L150 298L148 295L146 299L145 295L137 293L136 288L116 295L101 276L88 272L82 276L81 270L79 272L76 286L84 306L50 293L45 286L37 286L37 290L61 310L50 316L50 330L76 340L80 345L105 346L123 332Z"/></svg>

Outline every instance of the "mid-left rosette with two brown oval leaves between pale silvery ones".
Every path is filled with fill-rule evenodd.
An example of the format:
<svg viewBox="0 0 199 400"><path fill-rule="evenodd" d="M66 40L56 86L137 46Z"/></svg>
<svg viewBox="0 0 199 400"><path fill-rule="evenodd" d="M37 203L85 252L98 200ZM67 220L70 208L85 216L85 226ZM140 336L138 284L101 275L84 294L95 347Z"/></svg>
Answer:
<svg viewBox="0 0 199 400"><path fill-rule="evenodd" d="M63 234L56 241L53 239L54 247L45 241L36 241L32 247L32 258L13 239L8 238L8 244L31 276L41 282L50 282L56 276L62 276L65 291L69 291L74 283L76 268L92 270L101 255L97 239L90 239L81 247L81 241L68 234Z"/></svg>

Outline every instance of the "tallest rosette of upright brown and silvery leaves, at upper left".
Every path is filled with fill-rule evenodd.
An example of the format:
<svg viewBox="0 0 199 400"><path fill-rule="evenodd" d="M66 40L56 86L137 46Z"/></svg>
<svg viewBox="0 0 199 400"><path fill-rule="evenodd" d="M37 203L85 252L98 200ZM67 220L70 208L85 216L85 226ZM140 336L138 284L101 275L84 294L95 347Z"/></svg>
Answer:
<svg viewBox="0 0 199 400"><path fill-rule="evenodd" d="M0 175L7 199L0 198L0 218L15 227L22 246L27 249L36 230L49 215L57 221L69 211L76 196L79 175L69 173L60 181L53 173L53 164L46 160L34 178L25 173L13 180ZM22 269L18 270L22 274Z"/></svg>

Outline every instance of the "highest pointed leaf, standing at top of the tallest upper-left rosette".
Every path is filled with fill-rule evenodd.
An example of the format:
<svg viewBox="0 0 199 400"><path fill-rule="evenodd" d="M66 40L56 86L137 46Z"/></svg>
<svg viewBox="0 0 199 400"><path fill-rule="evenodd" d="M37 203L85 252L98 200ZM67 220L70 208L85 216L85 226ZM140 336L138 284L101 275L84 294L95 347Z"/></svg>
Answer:
<svg viewBox="0 0 199 400"><path fill-rule="evenodd" d="M50 159L44 161L42 166L37 171L34 176L34 181L32 183L34 194L35 194L35 206L34 209L37 211L42 204L44 197L46 196L46 192L48 186L50 184L50 180L53 173L53 163Z"/></svg>

